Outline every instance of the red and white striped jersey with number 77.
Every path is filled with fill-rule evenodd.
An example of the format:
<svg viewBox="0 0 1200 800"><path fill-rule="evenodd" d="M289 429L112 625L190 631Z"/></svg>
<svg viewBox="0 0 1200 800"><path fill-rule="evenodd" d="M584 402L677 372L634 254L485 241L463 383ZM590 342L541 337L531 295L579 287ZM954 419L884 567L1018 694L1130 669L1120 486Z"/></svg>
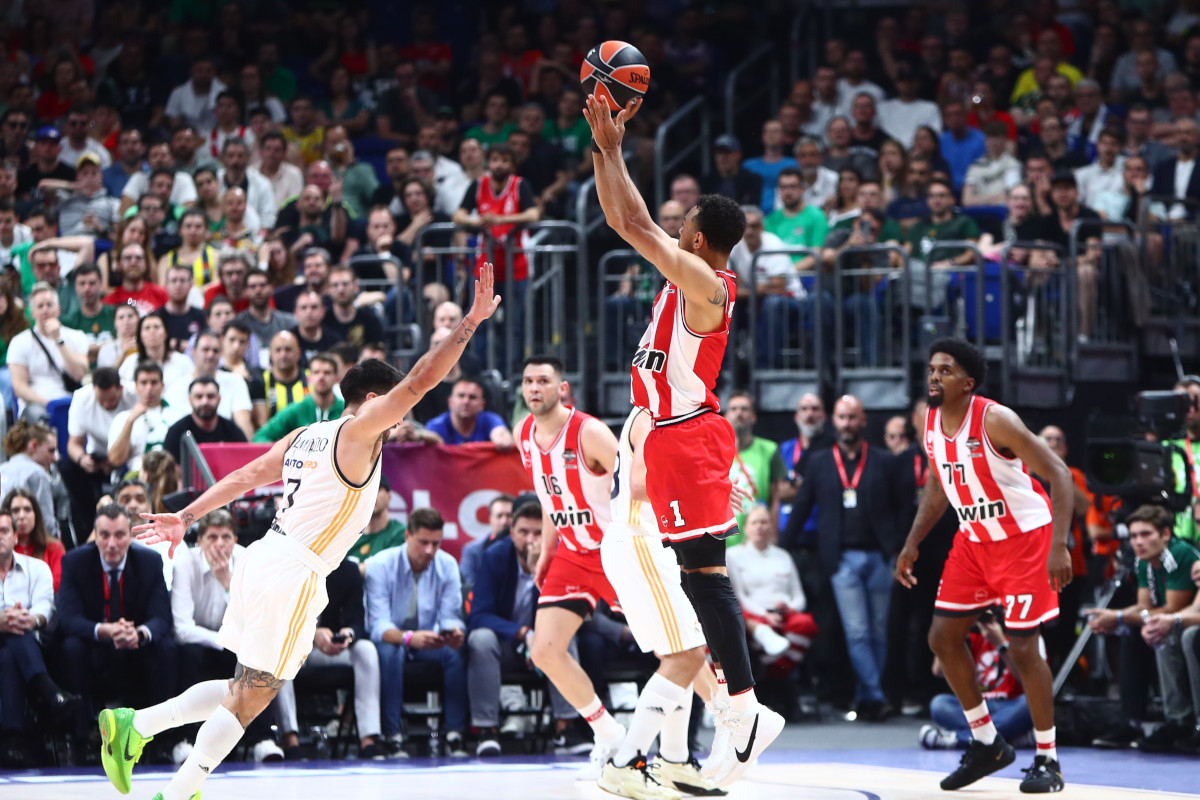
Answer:
<svg viewBox="0 0 1200 800"><path fill-rule="evenodd" d="M1020 458L996 452L984 420L994 401L971 398L953 437L942 429L942 409L925 413L925 451L946 497L959 516L959 531L973 542L992 542L1050 524L1050 498Z"/></svg>

